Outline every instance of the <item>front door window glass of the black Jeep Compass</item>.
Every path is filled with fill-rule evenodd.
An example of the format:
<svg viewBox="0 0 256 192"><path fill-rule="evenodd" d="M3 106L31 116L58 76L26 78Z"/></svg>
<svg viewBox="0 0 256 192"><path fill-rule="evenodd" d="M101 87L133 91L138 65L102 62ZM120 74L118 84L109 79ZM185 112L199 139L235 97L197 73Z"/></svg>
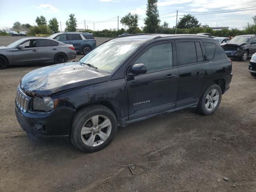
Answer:
<svg viewBox="0 0 256 192"><path fill-rule="evenodd" d="M151 47L134 62L134 64L138 63L146 65L147 73L172 68L172 44L166 43Z"/></svg>

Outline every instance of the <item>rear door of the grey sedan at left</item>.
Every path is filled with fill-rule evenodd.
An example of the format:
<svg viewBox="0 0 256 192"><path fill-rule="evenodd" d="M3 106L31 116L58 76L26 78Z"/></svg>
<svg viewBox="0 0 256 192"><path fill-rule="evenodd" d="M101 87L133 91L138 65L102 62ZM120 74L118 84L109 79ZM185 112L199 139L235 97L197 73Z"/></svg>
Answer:
<svg viewBox="0 0 256 192"><path fill-rule="evenodd" d="M53 62L58 49L58 42L56 41L49 39L38 40L39 58L43 62Z"/></svg>

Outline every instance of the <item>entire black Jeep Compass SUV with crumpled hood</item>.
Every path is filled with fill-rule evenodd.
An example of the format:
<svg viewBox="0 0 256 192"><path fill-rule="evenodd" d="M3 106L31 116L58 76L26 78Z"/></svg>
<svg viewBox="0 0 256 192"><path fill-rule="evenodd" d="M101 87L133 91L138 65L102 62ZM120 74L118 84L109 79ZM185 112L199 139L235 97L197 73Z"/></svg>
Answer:
<svg viewBox="0 0 256 192"><path fill-rule="evenodd" d="M118 126L188 107L212 114L231 79L232 62L212 37L120 36L78 62L26 74L16 116L31 137L63 136L94 152L111 142Z"/></svg>

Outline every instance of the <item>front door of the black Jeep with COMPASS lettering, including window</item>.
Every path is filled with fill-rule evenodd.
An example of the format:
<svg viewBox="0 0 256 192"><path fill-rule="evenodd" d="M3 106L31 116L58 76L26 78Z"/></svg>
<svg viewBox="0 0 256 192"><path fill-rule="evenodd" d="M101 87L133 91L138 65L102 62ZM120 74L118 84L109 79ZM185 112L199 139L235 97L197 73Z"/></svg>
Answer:
<svg viewBox="0 0 256 192"><path fill-rule="evenodd" d="M174 110L178 89L178 69L174 41L149 45L134 60L143 63L146 74L127 76L129 120Z"/></svg>

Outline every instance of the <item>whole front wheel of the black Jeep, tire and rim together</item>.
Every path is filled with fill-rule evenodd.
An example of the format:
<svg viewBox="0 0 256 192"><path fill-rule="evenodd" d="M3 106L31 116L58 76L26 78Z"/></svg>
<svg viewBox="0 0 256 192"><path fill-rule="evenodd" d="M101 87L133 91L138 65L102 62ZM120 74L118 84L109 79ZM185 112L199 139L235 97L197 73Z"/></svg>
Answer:
<svg viewBox="0 0 256 192"><path fill-rule="evenodd" d="M100 125L104 127L100 128ZM75 114L70 140L79 150L92 153L105 148L113 140L116 130L116 116L109 108L102 105L87 106Z"/></svg>

